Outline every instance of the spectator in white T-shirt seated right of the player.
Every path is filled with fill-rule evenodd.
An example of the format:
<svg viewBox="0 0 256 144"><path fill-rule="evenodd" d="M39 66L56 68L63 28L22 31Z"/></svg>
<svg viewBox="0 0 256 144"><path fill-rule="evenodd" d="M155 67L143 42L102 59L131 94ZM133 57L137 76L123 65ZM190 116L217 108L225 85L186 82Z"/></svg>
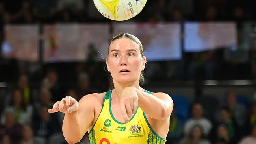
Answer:
<svg viewBox="0 0 256 144"><path fill-rule="evenodd" d="M184 134L189 135L189 131L194 126L199 125L202 127L203 134L207 137L212 129L212 123L207 118L203 117L203 107L200 103L194 103L192 105L192 118L188 119L184 124Z"/></svg>

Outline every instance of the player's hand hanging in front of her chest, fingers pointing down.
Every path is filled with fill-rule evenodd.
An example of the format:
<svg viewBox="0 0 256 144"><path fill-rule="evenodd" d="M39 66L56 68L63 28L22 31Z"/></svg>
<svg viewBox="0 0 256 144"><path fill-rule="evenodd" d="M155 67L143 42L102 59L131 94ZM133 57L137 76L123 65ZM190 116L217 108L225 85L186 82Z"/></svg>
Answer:
<svg viewBox="0 0 256 144"><path fill-rule="evenodd" d="M138 107L138 94L135 87L126 87L122 90L120 95L120 106L122 117L125 122L129 122Z"/></svg>

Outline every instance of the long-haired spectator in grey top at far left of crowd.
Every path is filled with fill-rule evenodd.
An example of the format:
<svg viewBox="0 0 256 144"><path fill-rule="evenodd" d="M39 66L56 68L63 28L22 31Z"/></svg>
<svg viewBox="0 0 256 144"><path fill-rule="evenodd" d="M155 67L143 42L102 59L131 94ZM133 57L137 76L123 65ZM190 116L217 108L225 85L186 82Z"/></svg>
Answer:
<svg viewBox="0 0 256 144"><path fill-rule="evenodd" d="M16 89L13 92L11 103L7 106L2 113L1 122L5 123L5 113L6 111L12 110L15 113L15 120L19 124L30 124L32 119L32 106L28 105L26 107L22 94L20 90Z"/></svg>

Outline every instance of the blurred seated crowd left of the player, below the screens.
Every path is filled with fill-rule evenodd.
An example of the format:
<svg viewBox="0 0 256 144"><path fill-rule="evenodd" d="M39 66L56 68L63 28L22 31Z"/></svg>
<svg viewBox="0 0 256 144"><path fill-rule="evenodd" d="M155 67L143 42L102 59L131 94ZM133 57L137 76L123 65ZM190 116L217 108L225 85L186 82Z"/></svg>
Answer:
<svg viewBox="0 0 256 144"><path fill-rule="evenodd" d="M91 87L91 78L89 73L80 72L76 85L67 87L59 82L56 70L50 68L39 87L34 87L28 75L22 74L5 94L1 93L4 98L1 100L0 144L67 144L61 131L64 113L47 110L67 95L79 101L87 94L99 92ZM88 133L79 144L89 144Z"/></svg>

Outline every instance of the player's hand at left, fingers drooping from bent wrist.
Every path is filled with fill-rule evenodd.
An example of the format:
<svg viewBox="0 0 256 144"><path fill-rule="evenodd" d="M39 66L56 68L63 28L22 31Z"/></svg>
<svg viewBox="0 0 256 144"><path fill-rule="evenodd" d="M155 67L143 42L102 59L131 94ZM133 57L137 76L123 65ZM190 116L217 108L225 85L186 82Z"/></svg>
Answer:
<svg viewBox="0 0 256 144"><path fill-rule="evenodd" d="M52 109L48 109L49 113L62 112L62 113L72 113L78 110L78 102L71 96L66 96L61 101L57 101L52 106Z"/></svg>

